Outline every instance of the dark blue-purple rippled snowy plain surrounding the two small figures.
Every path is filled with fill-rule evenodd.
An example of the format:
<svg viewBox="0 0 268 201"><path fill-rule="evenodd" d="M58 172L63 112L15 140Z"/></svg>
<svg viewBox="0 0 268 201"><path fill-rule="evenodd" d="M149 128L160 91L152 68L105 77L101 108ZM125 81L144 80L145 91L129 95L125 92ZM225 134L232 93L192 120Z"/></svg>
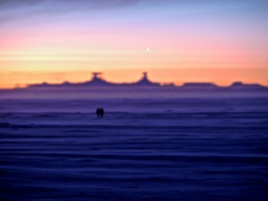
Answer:
<svg viewBox="0 0 268 201"><path fill-rule="evenodd" d="M267 94L64 93L0 93L1 200L268 199Z"/></svg>

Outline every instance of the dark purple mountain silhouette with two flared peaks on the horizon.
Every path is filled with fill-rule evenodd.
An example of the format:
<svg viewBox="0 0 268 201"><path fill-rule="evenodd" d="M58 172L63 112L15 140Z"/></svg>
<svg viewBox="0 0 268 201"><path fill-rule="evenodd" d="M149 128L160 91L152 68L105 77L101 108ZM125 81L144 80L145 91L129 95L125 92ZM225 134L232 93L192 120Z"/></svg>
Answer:
<svg viewBox="0 0 268 201"><path fill-rule="evenodd" d="M153 82L148 79L147 72L143 72L143 77L138 80L137 82L131 82L131 83L113 83L104 80L101 78L101 72L93 72L92 73L92 79L88 80L86 82L80 82L80 83L71 83L68 81L65 81L61 84L50 84L50 83L40 83L40 84L32 84L29 85L28 88L74 88L74 87L91 87L91 88L98 88L98 87L131 87L131 88L180 88L180 89L239 89L239 90L260 90L260 89L268 89L267 87L264 87L259 84L244 84L242 82L234 82L228 87L219 87L215 85L214 83L210 82L188 82L184 83L182 86L175 86L173 83L169 84L160 84L158 82Z"/></svg>

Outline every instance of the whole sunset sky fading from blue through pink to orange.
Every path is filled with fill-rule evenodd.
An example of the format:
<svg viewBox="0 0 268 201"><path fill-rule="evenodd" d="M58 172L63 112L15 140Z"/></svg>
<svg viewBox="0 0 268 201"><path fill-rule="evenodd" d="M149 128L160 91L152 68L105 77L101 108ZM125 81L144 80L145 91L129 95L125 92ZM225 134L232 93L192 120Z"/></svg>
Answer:
<svg viewBox="0 0 268 201"><path fill-rule="evenodd" d="M43 81L268 86L267 0L1 0L0 88Z"/></svg>

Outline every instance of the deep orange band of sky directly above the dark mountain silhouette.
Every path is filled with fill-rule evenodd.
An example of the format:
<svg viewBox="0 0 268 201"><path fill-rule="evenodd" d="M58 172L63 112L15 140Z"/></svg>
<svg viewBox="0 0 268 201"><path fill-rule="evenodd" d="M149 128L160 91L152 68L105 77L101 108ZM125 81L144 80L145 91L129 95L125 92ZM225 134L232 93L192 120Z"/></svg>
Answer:
<svg viewBox="0 0 268 201"><path fill-rule="evenodd" d="M160 83L214 82L219 86L229 86L234 81L259 83L268 86L265 68L260 69L211 69L211 68L180 68L180 69L146 69L152 81ZM98 71L98 70L97 70ZM141 70L105 70L103 78L111 82L134 82L141 78ZM13 71L0 73L0 88L26 87L34 83L73 83L91 79L91 71ZM259 81L255 81L259 80Z"/></svg>

